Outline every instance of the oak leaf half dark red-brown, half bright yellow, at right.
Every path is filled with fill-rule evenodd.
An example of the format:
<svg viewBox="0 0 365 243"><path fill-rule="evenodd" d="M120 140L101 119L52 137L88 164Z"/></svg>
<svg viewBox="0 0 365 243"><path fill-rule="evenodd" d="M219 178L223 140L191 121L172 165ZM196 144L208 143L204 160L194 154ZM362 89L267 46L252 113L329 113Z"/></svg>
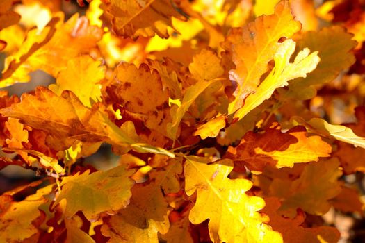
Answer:
<svg viewBox="0 0 365 243"><path fill-rule="evenodd" d="M303 126L295 126L286 133L280 126L268 128L265 133L245 134L236 147L229 146L227 158L238 167L247 166L252 171L263 171L271 165L277 168L293 167L295 163L318 161L328 157L332 147L319 136L307 137Z"/></svg>

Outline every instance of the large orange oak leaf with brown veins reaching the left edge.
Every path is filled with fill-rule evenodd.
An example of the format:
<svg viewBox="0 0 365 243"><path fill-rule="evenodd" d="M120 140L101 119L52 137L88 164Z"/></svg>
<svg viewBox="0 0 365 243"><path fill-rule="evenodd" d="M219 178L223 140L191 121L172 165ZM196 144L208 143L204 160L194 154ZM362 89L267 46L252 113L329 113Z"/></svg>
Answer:
<svg viewBox="0 0 365 243"><path fill-rule="evenodd" d="M0 112L20 119L32 128L46 131L49 134L47 142L58 150L67 149L76 140L109 141L121 146L134 143L96 107L86 108L67 90L58 97L47 88L38 87L35 95L23 94L21 103L3 108Z"/></svg>

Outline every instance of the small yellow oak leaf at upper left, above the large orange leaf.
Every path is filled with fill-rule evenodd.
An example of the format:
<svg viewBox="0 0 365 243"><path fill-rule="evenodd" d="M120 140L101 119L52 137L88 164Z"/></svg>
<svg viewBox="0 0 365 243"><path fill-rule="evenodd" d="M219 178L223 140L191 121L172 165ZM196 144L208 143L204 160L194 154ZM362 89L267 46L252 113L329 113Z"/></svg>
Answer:
<svg viewBox="0 0 365 243"><path fill-rule="evenodd" d="M56 84L49 85L49 89L60 95L63 90L70 90L86 107L100 100L100 81L105 76L106 67L101 61L90 56L78 56L67 62L66 69L60 71ZM75 80L77 82L75 82Z"/></svg>

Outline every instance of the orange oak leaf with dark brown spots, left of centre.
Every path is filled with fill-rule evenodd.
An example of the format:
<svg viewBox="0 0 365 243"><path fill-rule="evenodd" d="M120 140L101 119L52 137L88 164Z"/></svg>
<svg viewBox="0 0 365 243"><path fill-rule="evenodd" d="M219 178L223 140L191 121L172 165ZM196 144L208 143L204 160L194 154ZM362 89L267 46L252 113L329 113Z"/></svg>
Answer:
<svg viewBox="0 0 365 243"><path fill-rule="evenodd" d="M159 73L156 70L151 72L146 64L137 68L121 63L115 78L117 81L106 87L108 103L118 103L124 110L139 116L143 125L154 131L154 135L167 135L169 94L168 90L163 90Z"/></svg>

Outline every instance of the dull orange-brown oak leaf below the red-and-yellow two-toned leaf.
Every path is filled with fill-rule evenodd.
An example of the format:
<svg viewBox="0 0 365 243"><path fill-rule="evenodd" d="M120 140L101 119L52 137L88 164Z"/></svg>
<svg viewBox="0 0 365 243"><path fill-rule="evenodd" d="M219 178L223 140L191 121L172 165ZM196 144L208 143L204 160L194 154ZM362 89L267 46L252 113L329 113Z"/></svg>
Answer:
<svg viewBox="0 0 365 243"><path fill-rule="evenodd" d="M330 199L341 192L338 181L342 175L339 160L331 158L311 162L298 179L274 178L270 185L270 196L282 201L279 208L285 216L294 217L297 208L313 215L323 215L330 210Z"/></svg>

